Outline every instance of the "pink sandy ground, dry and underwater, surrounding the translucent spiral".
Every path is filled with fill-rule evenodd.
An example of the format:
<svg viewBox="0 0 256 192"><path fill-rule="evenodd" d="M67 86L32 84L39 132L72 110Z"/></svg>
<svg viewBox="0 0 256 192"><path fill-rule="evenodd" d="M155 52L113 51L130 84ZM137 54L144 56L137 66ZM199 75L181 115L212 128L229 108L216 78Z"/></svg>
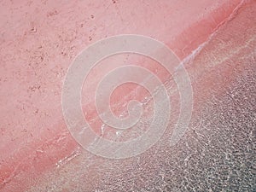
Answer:
<svg viewBox="0 0 256 192"><path fill-rule="evenodd" d="M228 0L1 2L1 191L253 191L255 6ZM164 137L146 153L108 160L70 135L61 86L75 55L122 33L156 38L176 53L192 81L194 108L175 147L169 140L173 115ZM131 62L167 80L177 111L177 89L157 63L120 55L105 61L112 66L96 67L84 85L84 116L96 132L102 123L91 102L93 88L109 69ZM122 94L134 89L117 91L112 102L125 103L129 98ZM125 110L121 104L117 113Z"/></svg>

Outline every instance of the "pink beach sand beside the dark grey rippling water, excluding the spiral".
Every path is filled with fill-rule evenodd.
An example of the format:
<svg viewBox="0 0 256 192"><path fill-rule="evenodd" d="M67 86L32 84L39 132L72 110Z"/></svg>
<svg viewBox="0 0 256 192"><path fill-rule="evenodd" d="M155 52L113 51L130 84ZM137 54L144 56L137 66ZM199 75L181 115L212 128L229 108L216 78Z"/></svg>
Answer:
<svg viewBox="0 0 256 192"><path fill-rule="evenodd" d="M180 60L186 61L195 95L194 118L213 93L220 95L242 73L246 65L243 55L255 49L255 1L42 0L0 4L1 191L24 191L32 186L35 191L37 186L46 191L44 186L49 181L45 175L57 174L56 168L61 166L71 178L72 170L77 169L73 164L84 162L73 154L79 150L90 155L70 135L61 112L61 86L67 68L89 44L124 33L149 36L167 44ZM218 38L212 36L216 33ZM157 63L136 56L125 60L125 56L120 55L113 66L96 67L92 72L83 94L87 119L96 118L91 102L93 88L110 68L137 62L152 71L159 69ZM165 72L159 73L162 79L168 78ZM117 91L112 102L126 102L123 96L134 89L134 85L128 85ZM100 123L92 122L96 131ZM60 163L69 157L73 162ZM92 156L88 162L93 158L98 157ZM81 191L90 191L90 184L100 179L92 168L86 174L93 177L86 178L88 186ZM59 183L58 188L55 191L74 189L72 183L63 189Z"/></svg>

